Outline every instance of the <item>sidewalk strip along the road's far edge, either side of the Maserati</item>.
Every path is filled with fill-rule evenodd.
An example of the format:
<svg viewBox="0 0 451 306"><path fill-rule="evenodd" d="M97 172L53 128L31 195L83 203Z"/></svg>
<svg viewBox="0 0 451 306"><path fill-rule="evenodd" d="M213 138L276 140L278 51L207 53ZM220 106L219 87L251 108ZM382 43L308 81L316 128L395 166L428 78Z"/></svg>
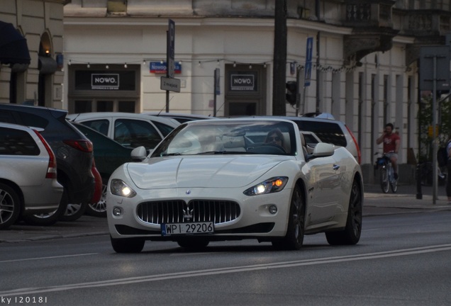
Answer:
<svg viewBox="0 0 451 306"><path fill-rule="evenodd" d="M399 186L397 193L382 193L379 185L364 186L364 217L400 213L451 210L445 186L438 186L438 199L433 204L433 188L422 186L422 199L417 199L416 186ZM108 235L106 218L84 215L74 222L57 222L50 227L18 223L0 231L0 246L5 242L25 242L71 237ZM3 244L4 245L4 244Z"/></svg>

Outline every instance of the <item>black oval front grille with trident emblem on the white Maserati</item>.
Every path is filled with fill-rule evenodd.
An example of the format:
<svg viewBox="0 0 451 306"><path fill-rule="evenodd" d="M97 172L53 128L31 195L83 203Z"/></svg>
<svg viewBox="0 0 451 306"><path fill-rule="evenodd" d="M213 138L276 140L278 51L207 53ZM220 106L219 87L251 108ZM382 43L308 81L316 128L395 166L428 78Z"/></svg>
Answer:
<svg viewBox="0 0 451 306"><path fill-rule="evenodd" d="M143 222L162 223L213 222L218 225L240 216L240 205L228 200L167 200L140 203L136 209Z"/></svg>

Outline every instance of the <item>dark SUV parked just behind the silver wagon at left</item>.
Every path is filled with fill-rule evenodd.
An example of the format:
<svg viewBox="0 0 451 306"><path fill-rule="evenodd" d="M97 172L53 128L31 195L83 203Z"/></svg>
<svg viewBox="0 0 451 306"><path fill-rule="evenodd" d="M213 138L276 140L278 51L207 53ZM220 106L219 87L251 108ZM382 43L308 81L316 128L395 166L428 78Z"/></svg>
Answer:
<svg viewBox="0 0 451 306"><path fill-rule="evenodd" d="M57 181L64 187L60 206L55 212L26 215L33 225L52 225L65 214L67 203L88 203L94 193L91 172L94 158L92 144L66 120L67 111L40 106L0 103L0 122L42 128L57 159Z"/></svg>

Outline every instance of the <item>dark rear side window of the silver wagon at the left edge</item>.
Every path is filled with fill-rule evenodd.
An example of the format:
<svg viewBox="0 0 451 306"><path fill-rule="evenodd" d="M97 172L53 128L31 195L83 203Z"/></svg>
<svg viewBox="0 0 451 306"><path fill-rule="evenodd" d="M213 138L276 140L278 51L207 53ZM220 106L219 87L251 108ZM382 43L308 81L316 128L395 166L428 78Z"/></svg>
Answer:
<svg viewBox="0 0 451 306"><path fill-rule="evenodd" d="M24 130L0 128L0 155L39 155L33 137Z"/></svg>

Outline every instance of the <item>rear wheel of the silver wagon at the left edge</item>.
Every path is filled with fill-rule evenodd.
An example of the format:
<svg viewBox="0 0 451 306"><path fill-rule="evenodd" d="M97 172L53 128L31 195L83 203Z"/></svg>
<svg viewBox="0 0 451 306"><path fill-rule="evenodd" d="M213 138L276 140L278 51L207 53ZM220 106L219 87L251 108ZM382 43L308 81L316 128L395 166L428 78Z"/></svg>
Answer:
<svg viewBox="0 0 451 306"><path fill-rule="evenodd" d="M0 183L0 229L6 229L16 222L21 213L21 200L10 186Z"/></svg>

